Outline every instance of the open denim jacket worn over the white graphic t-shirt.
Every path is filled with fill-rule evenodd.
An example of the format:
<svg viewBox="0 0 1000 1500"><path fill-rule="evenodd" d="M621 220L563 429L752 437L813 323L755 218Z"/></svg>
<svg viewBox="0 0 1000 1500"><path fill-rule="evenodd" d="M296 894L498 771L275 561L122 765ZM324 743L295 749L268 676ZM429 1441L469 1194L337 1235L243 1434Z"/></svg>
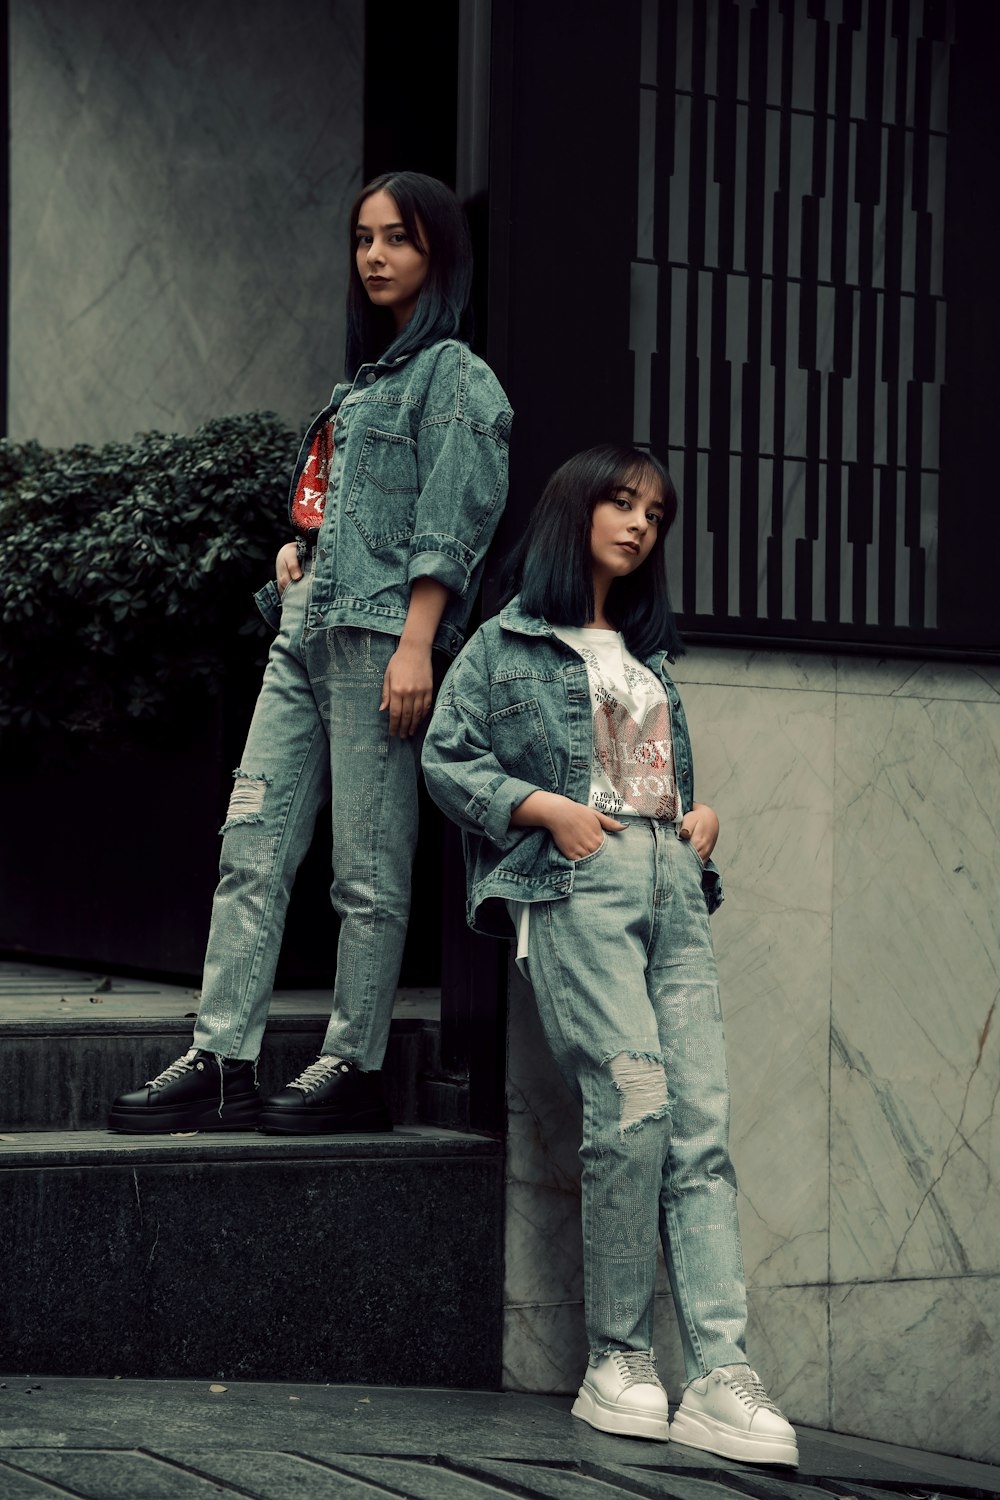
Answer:
<svg viewBox="0 0 1000 1500"><path fill-rule="evenodd" d="M667 692L681 810L694 802L691 740L664 651L646 657ZM469 927L510 936L498 902L550 902L573 891L573 860L546 828L511 828L513 810L540 788L574 802L591 795L594 714L583 658L552 627L511 600L448 668L424 740L435 802L462 830ZM723 900L709 860L705 900Z"/></svg>

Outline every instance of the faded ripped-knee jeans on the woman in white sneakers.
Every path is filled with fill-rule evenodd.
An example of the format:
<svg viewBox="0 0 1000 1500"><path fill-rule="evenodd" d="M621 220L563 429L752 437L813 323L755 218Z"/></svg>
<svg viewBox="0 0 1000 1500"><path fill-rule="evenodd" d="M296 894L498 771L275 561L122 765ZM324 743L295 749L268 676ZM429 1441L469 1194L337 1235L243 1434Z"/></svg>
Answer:
<svg viewBox="0 0 1000 1500"><path fill-rule="evenodd" d="M729 1076L702 861L634 818L531 908L528 972L583 1106L583 1298L594 1356L652 1347L657 1239L688 1380L745 1364Z"/></svg>

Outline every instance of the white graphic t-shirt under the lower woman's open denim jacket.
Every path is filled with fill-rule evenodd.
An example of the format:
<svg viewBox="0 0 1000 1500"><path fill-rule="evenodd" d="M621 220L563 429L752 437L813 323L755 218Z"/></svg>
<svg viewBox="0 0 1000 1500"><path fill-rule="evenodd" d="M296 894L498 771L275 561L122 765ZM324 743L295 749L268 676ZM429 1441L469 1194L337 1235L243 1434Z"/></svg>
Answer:
<svg viewBox="0 0 1000 1500"><path fill-rule="evenodd" d="M553 626L586 663L594 708L589 806L612 818L678 818L673 738L667 693L618 630ZM609 836L613 837L613 836ZM528 957L531 902L508 902L517 934L517 966Z"/></svg>

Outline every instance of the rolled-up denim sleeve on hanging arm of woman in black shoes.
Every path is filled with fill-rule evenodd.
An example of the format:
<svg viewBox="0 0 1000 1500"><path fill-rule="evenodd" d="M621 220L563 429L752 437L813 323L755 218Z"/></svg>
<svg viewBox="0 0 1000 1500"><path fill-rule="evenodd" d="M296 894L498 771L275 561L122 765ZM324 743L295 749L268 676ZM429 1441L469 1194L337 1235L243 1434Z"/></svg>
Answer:
<svg viewBox="0 0 1000 1500"><path fill-rule="evenodd" d="M460 345L435 366L417 440L418 500L408 580L465 597L507 500L511 410L492 370Z"/></svg>

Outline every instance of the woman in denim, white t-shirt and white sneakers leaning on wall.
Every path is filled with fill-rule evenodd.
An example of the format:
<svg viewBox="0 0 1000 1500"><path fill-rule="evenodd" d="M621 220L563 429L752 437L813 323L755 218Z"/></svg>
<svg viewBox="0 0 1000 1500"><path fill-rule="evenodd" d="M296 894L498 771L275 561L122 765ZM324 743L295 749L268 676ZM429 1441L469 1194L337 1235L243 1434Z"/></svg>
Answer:
<svg viewBox="0 0 1000 1500"><path fill-rule="evenodd" d="M462 828L468 920L510 936L583 1107L589 1364L573 1414L727 1458L798 1462L747 1362L729 1078L709 914L718 819L694 801L667 672L663 465L597 447L552 476L514 597L444 681L430 795ZM673 1422L652 1352L657 1240L687 1384Z"/></svg>

